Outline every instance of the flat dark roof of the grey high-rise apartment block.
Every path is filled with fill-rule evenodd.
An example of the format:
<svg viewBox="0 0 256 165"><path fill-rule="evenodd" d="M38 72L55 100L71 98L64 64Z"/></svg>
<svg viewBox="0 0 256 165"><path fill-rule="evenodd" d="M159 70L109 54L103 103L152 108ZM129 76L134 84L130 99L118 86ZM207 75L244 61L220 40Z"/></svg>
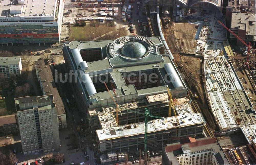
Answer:
<svg viewBox="0 0 256 165"><path fill-rule="evenodd" d="M15 107L17 111L24 111L29 109L38 108L38 110L45 110L55 108L56 103L54 102L53 95L45 96L26 96L15 98Z"/></svg>

